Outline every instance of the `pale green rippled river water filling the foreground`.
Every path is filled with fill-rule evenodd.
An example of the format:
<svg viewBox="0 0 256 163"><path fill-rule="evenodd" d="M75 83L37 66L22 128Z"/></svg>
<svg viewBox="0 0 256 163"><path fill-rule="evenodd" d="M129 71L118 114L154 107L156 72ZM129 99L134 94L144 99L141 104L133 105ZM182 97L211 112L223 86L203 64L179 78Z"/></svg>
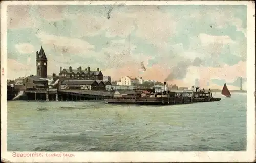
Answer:
<svg viewBox="0 0 256 163"><path fill-rule="evenodd" d="M242 151L246 94L173 106L8 101L8 151Z"/></svg>

